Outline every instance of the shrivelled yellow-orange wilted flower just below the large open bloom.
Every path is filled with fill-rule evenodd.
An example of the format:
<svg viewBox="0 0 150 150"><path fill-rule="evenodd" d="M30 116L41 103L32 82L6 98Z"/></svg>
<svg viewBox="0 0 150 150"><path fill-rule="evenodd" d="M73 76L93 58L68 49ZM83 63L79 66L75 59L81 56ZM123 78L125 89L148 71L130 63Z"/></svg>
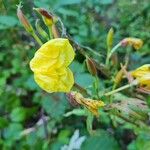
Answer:
<svg viewBox="0 0 150 150"><path fill-rule="evenodd" d="M98 116L98 108L104 106L104 102L100 100L93 100L90 98L84 98L78 92L70 93L74 101L78 104L85 106L89 111L91 111L95 116Z"/></svg>

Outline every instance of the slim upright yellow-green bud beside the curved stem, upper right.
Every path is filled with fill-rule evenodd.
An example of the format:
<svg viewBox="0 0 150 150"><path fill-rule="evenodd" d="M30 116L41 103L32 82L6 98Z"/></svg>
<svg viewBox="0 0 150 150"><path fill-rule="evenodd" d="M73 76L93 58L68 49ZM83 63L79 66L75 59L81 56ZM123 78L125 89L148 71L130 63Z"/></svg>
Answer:
<svg viewBox="0 0 150 150"><path fill-rule="evenodd" d="M109 30L109 32L107 34L107 47L108 47L108 49L112 48L113 37L114 37L114 30L113 30L113 28L110 28L110 30Z"/></svg>

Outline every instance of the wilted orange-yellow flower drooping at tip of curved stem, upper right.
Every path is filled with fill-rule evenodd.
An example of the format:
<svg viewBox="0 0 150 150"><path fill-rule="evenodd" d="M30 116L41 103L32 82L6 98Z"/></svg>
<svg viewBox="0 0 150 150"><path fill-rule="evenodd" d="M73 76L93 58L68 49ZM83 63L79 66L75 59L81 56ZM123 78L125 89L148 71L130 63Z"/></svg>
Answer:
<svg viewBox="0 0 150 150"><path fill-rule="evenodd" d="M121 45L126 46L126 45L131 45L133 46L136 50L141 48L143 45L143 41L138 38L125 38L121 41Z"/></svg>

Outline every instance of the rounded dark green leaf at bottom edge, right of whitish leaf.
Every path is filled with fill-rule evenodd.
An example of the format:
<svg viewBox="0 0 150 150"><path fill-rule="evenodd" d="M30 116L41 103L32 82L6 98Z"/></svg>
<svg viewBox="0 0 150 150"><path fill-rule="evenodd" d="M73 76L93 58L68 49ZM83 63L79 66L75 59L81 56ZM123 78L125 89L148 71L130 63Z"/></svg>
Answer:
<svg viewBox="0 0 150 150"><path fill-rule="evenodd" d="M96 131L97 133L97 131ZM106 131L100 130L99 135L91 136L85 140L81 150L119 150L116 140Z"/></svg>

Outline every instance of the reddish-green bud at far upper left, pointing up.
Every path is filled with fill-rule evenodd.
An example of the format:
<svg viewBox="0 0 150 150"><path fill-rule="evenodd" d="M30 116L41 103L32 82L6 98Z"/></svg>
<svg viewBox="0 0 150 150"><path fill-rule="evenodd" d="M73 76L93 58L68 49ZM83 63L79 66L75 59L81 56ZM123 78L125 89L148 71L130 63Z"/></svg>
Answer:
<svg viewBox="0 0 150 150"><path fill-rule="evenodd" d="M33 32L32 25L29 23L29 21L27 20L27 18L25 17L25 15L23 14L23 12L21 10L21 4L19 4L18 8L17 8L17 16L18 16L20 22L23 24L26 31L29 33Z"/></svg>

